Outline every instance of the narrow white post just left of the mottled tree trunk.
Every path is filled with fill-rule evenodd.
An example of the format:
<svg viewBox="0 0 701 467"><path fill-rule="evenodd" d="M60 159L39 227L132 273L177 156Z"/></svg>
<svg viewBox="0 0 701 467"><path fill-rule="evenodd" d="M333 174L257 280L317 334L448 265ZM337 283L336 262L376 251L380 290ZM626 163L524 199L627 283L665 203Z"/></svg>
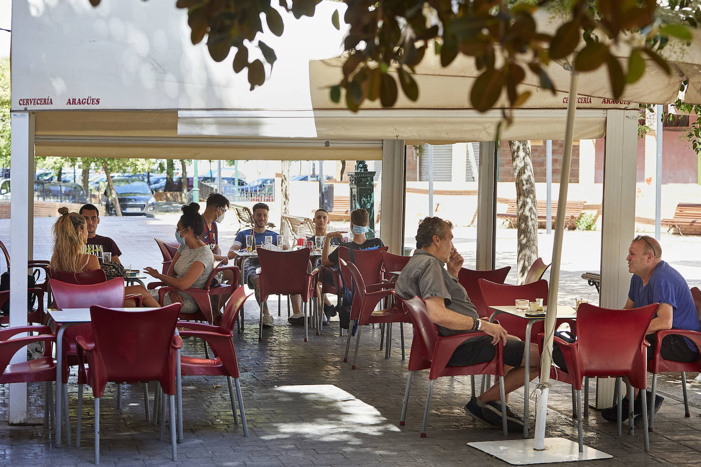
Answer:
<svg viewBox="0 0 701 467"><path fill-rule="evenodd" d="M479 143L477 189L477 270L494 269L496 229L496 145Z"/></svg>

